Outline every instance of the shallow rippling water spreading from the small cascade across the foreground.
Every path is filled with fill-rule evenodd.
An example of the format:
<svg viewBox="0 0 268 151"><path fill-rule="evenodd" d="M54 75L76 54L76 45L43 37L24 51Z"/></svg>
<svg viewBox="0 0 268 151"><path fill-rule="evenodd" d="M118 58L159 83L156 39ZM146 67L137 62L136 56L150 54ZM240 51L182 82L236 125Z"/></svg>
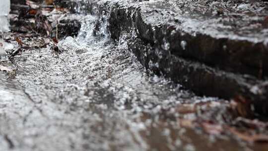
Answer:
<svg viewBox="0 0 268 151"><path fill-rule="evenodd" d="M182 103L212 101L152 75L98 18L81 17L76 38L24 52L16 76L0 72L0 151L240 151L248 147L181 127ZM219 100L221 101L221 100ZM166 114L169 113L169 114ZM172 115L172 116L170 116Z"/></svg>

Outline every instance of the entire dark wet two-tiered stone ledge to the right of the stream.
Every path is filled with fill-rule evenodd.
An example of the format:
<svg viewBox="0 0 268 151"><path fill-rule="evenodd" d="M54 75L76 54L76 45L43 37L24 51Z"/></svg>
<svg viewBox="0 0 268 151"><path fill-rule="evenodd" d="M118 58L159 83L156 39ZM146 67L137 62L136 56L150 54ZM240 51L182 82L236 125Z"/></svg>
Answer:
<svg viewBox="0 0 268 151"><path fill-rule="evenodd" d="M146 69L199 95L242 96L256 113L268 114L268 90L262 86L267 79L263 26L267 2L89 0L79 4L83 7L76 8L78 12L107 16L111 38L128 41L128 49Z"/></svg>

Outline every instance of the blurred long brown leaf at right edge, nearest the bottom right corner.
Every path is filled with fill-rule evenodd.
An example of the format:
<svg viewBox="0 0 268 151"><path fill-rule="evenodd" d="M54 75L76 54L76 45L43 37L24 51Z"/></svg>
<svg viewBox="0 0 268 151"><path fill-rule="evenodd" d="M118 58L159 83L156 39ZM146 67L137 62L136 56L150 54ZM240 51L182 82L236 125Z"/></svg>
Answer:
<svg viewBox="0 0 268 151"><path fill-rule="evenodd" d="M229 131L238 137L239 139L249 142L249 143L268 143L268 135L264 134L255 134L255 135L250 135L247 133L242 133L237 131L235 128L228 127Z"/></svg>

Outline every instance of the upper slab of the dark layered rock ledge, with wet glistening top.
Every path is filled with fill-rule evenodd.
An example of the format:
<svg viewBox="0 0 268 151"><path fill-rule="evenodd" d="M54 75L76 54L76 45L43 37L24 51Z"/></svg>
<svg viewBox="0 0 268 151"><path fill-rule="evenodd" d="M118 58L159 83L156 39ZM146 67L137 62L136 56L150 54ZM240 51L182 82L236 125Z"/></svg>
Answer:
<svg viewBox="0 0 268 151"><path fill-rule="evenodd" d="M113 38L119 38L121 29L117 30L117 28L126 26L126 22L129 22L126 17L130 18L131 13L136 11L133 24L138 36L153 43L154 47L160 48L167 45L165 49L171 54L197 60L228 72L257 77L268 75L268 60L266 59L268 46L265 38L267 34L262 33L261 24L252 19L256 17L261 20L266 16L267 9L261 12L253 10L240 12L226 8L225 16L215 18L212 14L200 15L196 12L197 10L192 10L195 8L189 6L190 1L192 0L185 2L183 9L170 3L164 6L159 3L143 3L135 7L114 7L112 11L117 14L114 15L112 12L113 20L111 21L115 22L111 25L112 35L115 35ZM188 7L186 8L185 5ZM193 5L197 5L196 9L200 9L202 2L199 1L198 4ZM150 8L156 8L156 10ZM133 9L133 11L126 11L127 9ZM178 12L170 11L170 9L177 9ZM189 15L179 10L188 12ZM235 17L236 19L233 18L228 14L229 11L236 11L236 15L244 15L250 11L252 16L244 15L247 21L243 21L238 16ZM209 13L208 10L207 13ZM202 24L202 27L199 24ZM250 25L253 27L246 29ZM182 47L183 45L185 46Z"/></svg>

